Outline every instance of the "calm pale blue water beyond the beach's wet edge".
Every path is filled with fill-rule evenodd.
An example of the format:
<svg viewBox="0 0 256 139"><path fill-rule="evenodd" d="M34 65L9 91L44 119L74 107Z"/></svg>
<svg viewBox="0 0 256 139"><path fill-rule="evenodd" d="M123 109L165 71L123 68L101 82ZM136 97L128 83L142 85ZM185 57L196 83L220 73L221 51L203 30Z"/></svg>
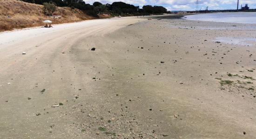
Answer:
<svg viewBox="0 0 256 139"><path fill-rule="evenodd" d="M205 13L185 16L185 19L228 23L256 24L256 12Z"/></svg>

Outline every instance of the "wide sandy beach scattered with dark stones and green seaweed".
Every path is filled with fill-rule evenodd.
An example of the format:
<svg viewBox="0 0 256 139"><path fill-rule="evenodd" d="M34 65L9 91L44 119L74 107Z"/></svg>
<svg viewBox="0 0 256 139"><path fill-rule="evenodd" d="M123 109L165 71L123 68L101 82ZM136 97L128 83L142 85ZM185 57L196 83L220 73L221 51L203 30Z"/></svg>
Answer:
<svg viewBox="0 0 256 139"><path fill-rule="evenodd" d="M0 138L256 138L256 25L160 18L0 33Z"/></svg>

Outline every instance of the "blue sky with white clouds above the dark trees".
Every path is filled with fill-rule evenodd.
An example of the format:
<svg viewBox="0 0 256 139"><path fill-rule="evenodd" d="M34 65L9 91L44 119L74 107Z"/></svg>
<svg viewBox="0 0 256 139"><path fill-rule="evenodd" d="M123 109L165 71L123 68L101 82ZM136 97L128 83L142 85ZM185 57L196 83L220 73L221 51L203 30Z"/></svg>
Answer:
<svg viewBox="0 0 256 139"><path fill-rule="evenodd" d="M94 1L101 3L113 3L114 1L122 1L135 6L142 7L143 5L157 5L164 6L171 11L179 10L195 10L195 0L84 0L86 3L92 4ZM256 0L239 0L239 7L241 4L249 4L250 8L256 8ZM199 0L199 9L205 9L209 6L209 10L216 9L236 9L237 0Z"/></svg>

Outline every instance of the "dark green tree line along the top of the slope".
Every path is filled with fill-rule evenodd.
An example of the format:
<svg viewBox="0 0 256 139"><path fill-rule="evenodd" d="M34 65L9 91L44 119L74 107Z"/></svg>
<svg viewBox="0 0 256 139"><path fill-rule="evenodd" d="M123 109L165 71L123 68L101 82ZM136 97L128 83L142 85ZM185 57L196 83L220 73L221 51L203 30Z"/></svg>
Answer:
<svg viewBox="0 0 256 139"><path fill-rule="evenodd" d="M72 9L77 8L88 15L98 16L99 13L107 13L110 15L150 15L150 14L162 14L168 13L167 9L163 6L151 6L146 5L140 8L139 6L134 6L124 2L113 2L112 4L102 4L100 2L94 2L93 5L85 3L83 0L22 0L29 3L40 4L44 6L51 7L53 6L68 6ZM47 9L47 8L45 8ZM50 10L51 11L51 10Z"/></svg>

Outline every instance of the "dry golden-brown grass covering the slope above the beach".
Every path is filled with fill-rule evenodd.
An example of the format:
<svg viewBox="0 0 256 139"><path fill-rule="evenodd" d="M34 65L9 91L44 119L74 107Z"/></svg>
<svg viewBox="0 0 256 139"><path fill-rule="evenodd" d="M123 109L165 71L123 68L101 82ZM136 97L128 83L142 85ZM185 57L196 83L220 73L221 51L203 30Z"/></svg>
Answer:
<svg viewBox="0 0 256 139"><path fill-rule="evenodd" d="M96 19L78 9L71 10L69 7L58 7L54 15L61 17L54 18L44 15L42 7L19 0L0 0L0 32L13 30L14 28L41 26L44 25L42 21L46 19L53 21L53 24ZM104 15L100 16L100 18L105 17Z"/></svg>

